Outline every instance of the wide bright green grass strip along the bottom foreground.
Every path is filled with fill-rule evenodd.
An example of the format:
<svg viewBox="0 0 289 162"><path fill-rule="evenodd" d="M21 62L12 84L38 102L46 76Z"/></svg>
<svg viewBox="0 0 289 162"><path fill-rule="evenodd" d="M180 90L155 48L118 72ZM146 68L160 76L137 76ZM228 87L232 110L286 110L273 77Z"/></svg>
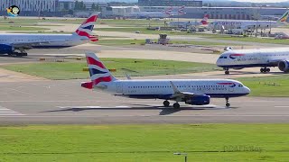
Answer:
<svg viewBox="0 0 289 162"><path fill-rule="evenodd" d="M0 127L2 161L287 161L288 124Z"/></svg>

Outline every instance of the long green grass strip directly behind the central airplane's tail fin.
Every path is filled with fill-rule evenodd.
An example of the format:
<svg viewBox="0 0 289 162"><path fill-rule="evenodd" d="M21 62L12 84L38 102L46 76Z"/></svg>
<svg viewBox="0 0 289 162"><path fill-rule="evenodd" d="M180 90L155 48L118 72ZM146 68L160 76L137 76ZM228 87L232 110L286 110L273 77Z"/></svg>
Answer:
<svg viewBox="0 0 289 162"><path fill-rule="evenodd" d="M131 59L131 58L101 58L107 68L116 68L114 76L154 76L196 73L203 71L219 70L212 64L193 63L184 61ZM87 67L84 60L79 62L47 62L31 64L15 64L1 66L9 70L42 76L49 79L76 79L88 78L89 72L83 72Z"/></svg>

